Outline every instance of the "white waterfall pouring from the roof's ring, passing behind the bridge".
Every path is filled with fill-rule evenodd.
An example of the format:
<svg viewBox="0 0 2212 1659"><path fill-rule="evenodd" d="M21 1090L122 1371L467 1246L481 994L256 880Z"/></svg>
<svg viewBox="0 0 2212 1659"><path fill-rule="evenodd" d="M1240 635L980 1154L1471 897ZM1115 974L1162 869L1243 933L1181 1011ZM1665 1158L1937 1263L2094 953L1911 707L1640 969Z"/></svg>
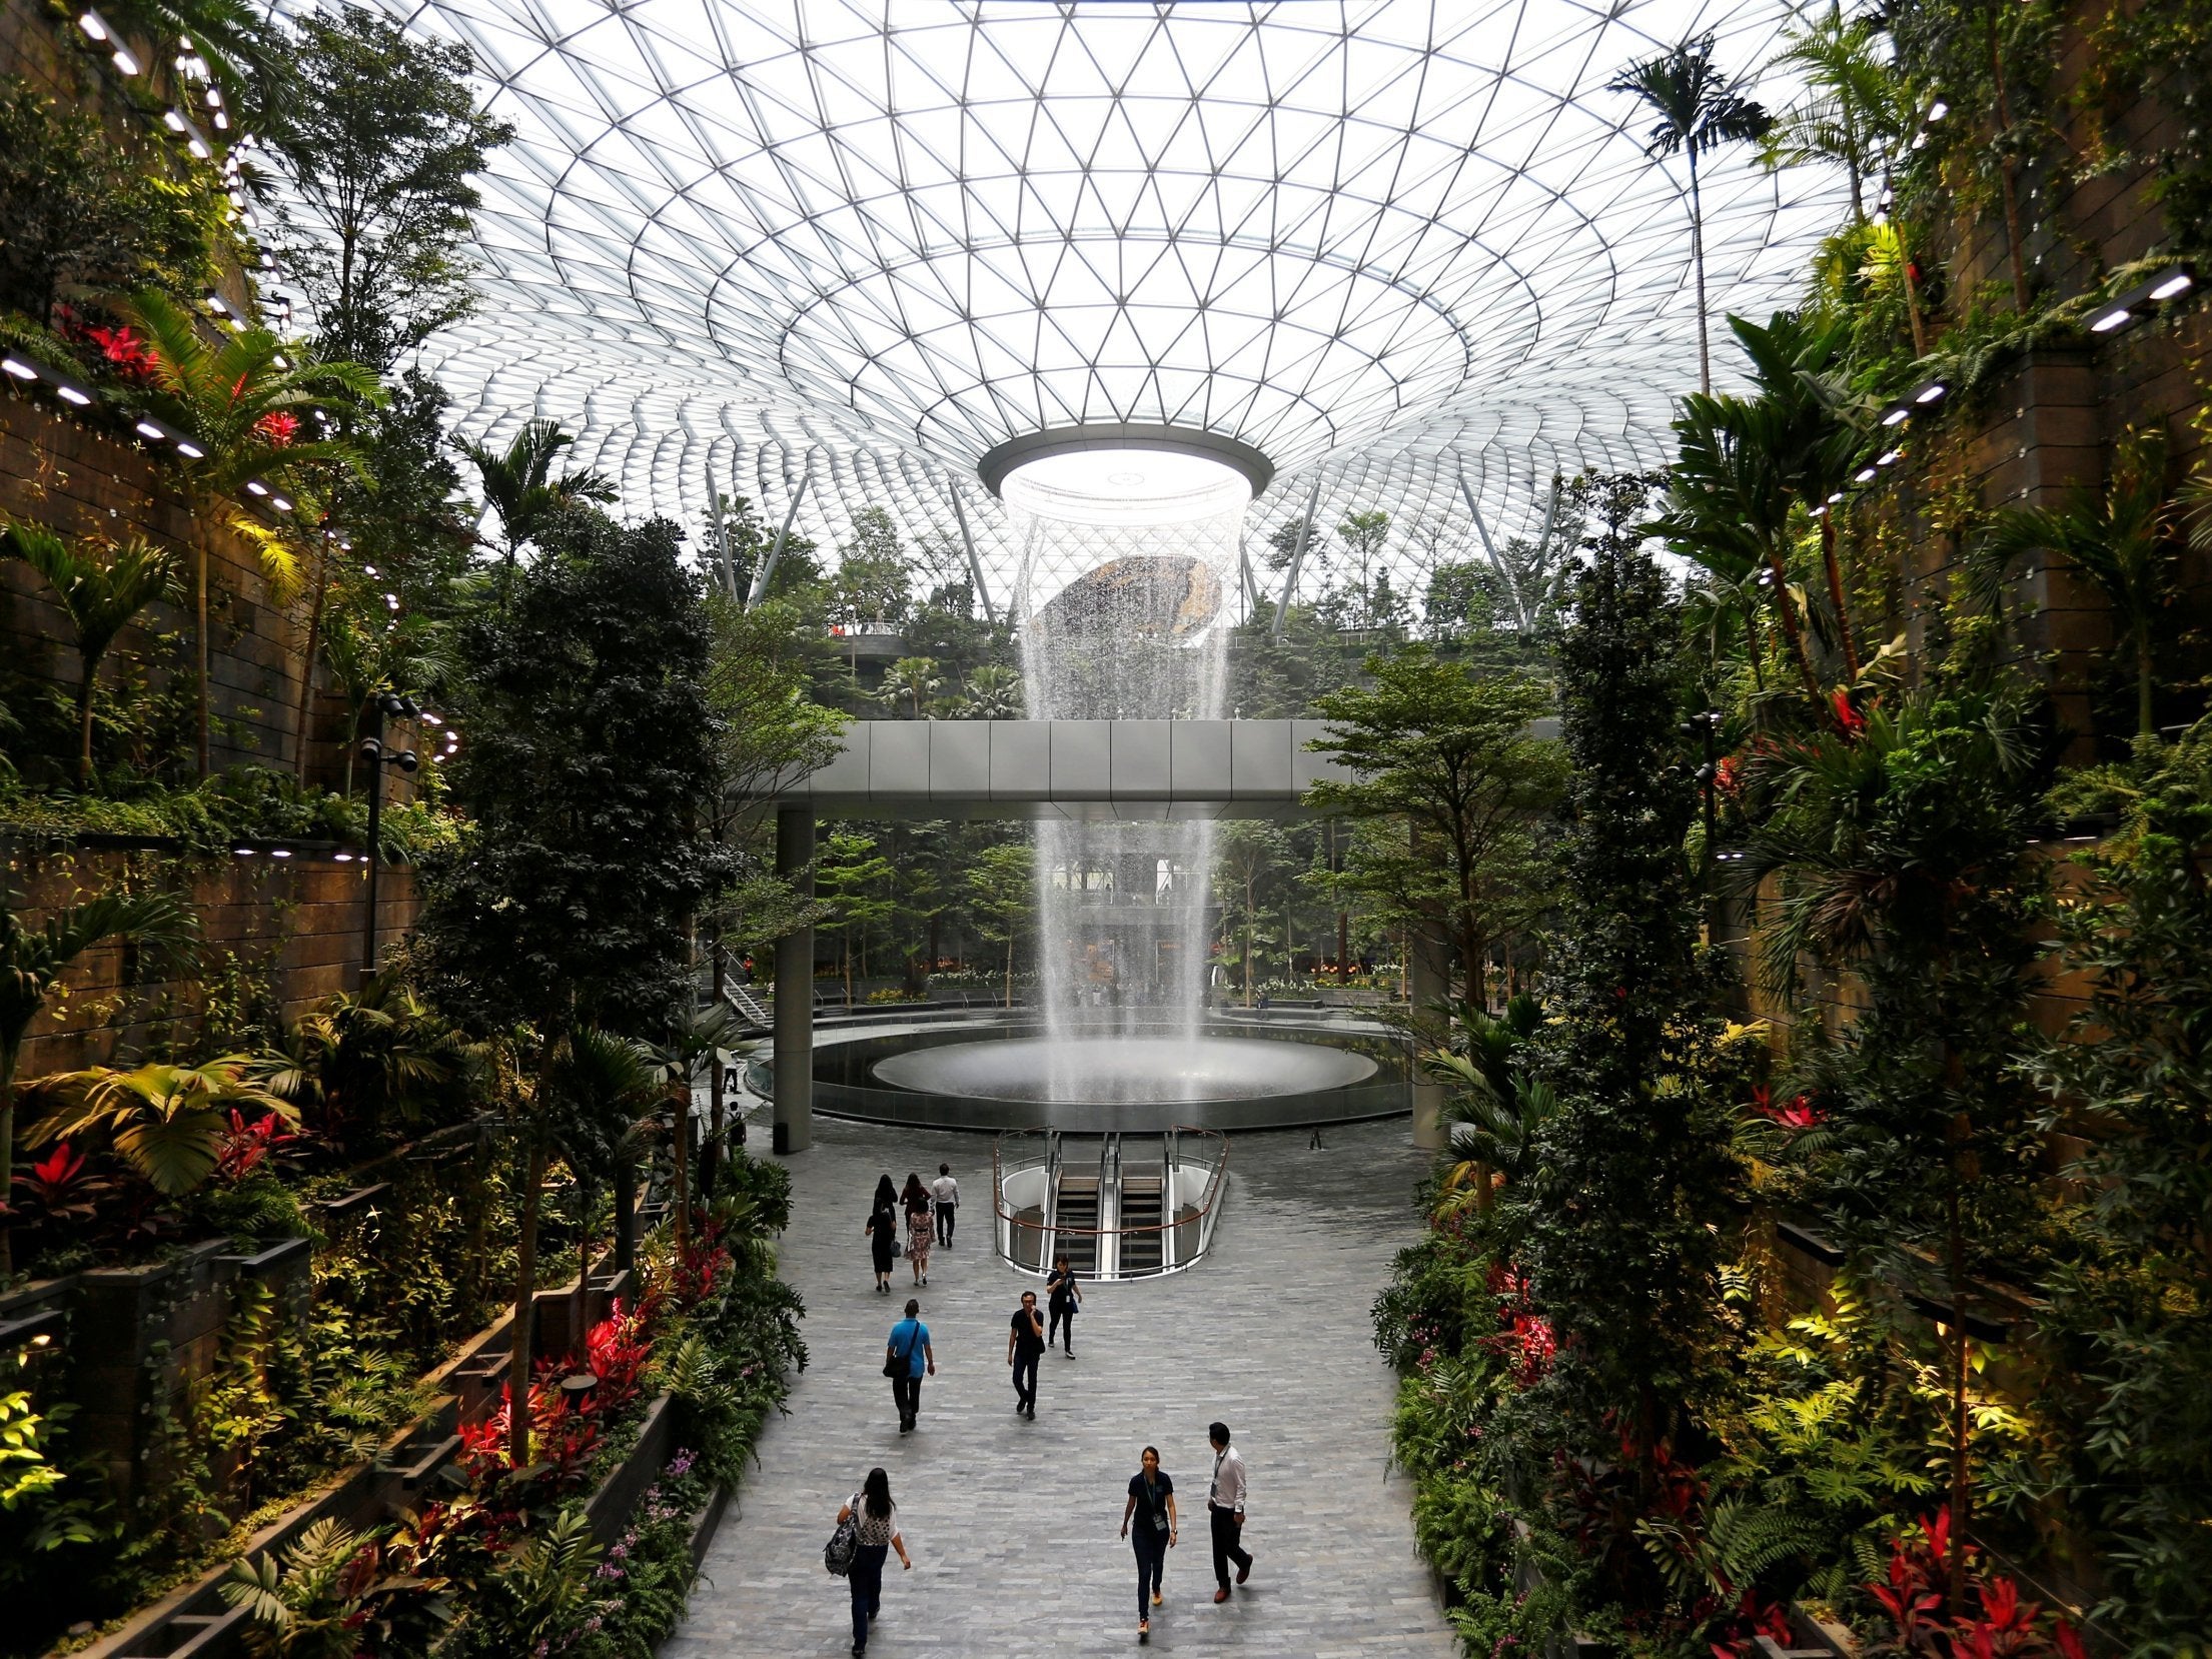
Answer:
<svg viewBox="0 0 2212 1659"><path fill-rule="evenodd" d="M1243 509L1170 526L1040 515L1018 526L1015 615L1031 719L1221 719L1223 611ZM1048 1062L1051 1099L1088 1097L1075 1075L1082 1037L1197 1040L1212 849L1210 818L1037 825L1037 1002L1048 1055L1064 1057ZM1161 1084L1181 1086L1172 1075Z"/></svg>

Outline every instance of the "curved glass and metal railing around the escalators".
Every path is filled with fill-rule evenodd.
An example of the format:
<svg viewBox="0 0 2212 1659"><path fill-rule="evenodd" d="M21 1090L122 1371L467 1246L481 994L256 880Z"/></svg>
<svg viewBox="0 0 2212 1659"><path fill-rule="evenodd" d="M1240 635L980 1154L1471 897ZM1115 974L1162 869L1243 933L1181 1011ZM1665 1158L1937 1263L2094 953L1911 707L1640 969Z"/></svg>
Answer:
<svg viewBox="0 0 2212 1659"><path fill-rule="evenodd" d="M1186 1137L1199 1137L1186 1148ZM1088 1150L1084 1170L1097 1170L1097 1225L1068 1225L1062 1219L1060 1190L1068 1172L1066 1139L1097 1141L1097 1159ZM1121 1223L1128 1141L1159 1144L1159 1221ZM1044 1276L1055 1256L1082 1254L1091 1261L1086 1279L1157 1279L1181 1272L1203 1256L1221 1219L1221 1194L1228 1181L1228 1137L1210 1128L1177 1126L1166 1135L1064 1137L1057 1128L1009 1128L991 1148L991 1234L998 1254L1018 1272ZM1192 1201L1181 1199L1186 1172L1203 1170L1206 1183ZM1026 1179L1033 1177L1033 1179ZM1015 1192L1009 1192L1009 1181ZM1133 1265L1126 1245L1133 1239L1159 1241L1159 1261ZM1068 1245L1077 1245L1071 1250ZM1148 1256L1150 1250L1135 1252Z"/></svg>

